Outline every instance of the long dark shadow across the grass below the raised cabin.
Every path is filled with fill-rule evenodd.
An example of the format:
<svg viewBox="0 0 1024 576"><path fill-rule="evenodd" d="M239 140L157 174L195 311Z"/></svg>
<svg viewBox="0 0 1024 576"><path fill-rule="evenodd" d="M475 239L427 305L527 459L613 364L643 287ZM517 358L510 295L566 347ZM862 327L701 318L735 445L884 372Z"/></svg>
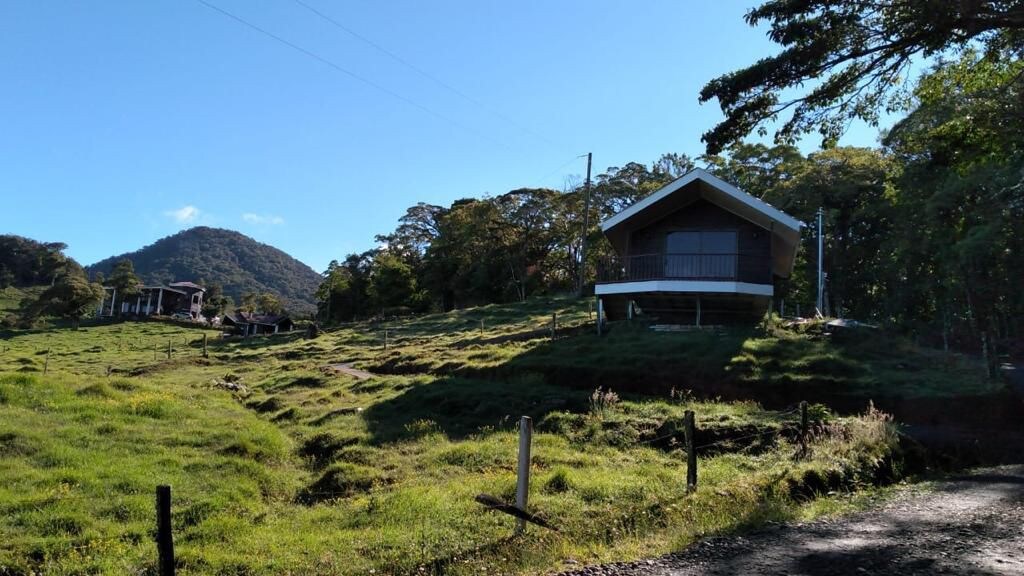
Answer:
<svg viewBox="0 0 1024 576"><path fill-rule="evenodd" d="M554 412L587 412L599 386L666 399L672 388L720 374L748 335L652 334L625 325L605 337L577 333L538 343L498 366L455 367L451 375L374 404L364 419L377 443L432 431L462 439L514 427L521 415L538 425Z"/></svg>

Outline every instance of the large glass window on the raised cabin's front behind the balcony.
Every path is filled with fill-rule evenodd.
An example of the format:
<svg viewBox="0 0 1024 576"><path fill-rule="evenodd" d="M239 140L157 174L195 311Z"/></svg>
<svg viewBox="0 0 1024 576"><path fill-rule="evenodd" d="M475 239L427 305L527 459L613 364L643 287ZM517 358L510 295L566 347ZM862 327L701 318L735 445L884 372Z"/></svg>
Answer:
<svg viewBox="0 0 1024 576"><path fill-rule="evenodd" d="M666 236L667 278L736 278L736 232L671 232Z"/></svg>

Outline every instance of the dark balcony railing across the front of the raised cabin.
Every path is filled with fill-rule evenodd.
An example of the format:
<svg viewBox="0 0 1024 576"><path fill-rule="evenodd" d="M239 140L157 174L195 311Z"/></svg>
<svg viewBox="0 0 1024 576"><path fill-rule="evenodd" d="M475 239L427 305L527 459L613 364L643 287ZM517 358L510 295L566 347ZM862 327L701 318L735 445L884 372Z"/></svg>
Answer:
<svg viewBox="0 0 1024 576"><path fill-rule="evenodd" d="M598 266L597 281L712 280L771 283L770 257L761 254L637 254Z"/></svg>

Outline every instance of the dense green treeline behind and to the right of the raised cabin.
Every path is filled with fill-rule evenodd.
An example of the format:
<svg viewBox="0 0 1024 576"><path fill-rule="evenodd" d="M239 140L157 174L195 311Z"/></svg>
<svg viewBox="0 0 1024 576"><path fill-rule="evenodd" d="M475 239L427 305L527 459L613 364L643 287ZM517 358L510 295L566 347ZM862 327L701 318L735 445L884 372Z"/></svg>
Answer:
<svg viewBox="0 0 1024 576"><path fill-rule="evenodd" d="M609 254L598 223L695 164L808 224L825 214L827 307L937 343L991 347L1024 317L1024 75L1019 59L965 52L918 83L907 115L877 149L733 145L665 155L598 175L586 283ZM572 290L585 190L520 189L409 208L379 248L333 261L319 317L449 310ZM814 302L815 239L777 298Z"/></svg>

